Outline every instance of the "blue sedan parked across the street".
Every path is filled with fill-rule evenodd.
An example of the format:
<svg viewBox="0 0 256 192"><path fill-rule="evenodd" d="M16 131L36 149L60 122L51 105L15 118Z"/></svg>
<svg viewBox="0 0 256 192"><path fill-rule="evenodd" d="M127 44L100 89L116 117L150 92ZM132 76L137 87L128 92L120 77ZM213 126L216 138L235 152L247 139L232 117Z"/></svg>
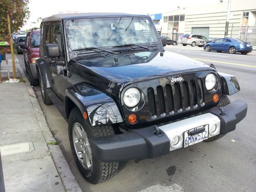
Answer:
<svg viewBox="0 0 256 192"><path fill-rule="evenodd" d="M220 38L215 41L210 41L204 45L205 51L226 51L229 53L240 52L243 55L252 51L252 45L249 42L244 42L235 38Z"/></svg>

